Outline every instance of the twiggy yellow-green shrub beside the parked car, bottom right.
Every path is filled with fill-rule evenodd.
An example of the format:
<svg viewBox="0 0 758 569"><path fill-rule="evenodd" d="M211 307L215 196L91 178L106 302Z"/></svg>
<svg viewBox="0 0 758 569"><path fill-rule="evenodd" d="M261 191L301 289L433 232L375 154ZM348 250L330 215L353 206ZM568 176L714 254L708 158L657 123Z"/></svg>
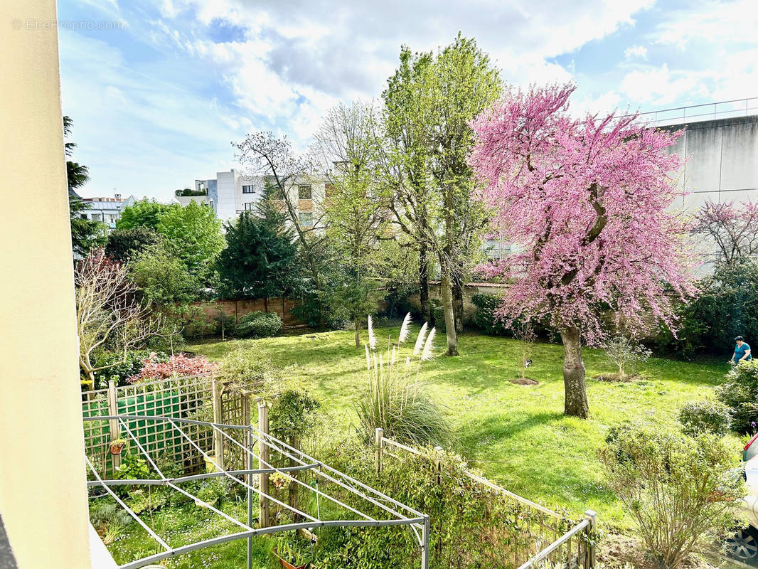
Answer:
<svg viewBox="0 0 758 569"><path fill-rule="evenodd" d="M661 567L675 569L734 527L743 483L728 476L737 461L724 439L631 426L611 429L606 443L609 486Z"/></svg>

